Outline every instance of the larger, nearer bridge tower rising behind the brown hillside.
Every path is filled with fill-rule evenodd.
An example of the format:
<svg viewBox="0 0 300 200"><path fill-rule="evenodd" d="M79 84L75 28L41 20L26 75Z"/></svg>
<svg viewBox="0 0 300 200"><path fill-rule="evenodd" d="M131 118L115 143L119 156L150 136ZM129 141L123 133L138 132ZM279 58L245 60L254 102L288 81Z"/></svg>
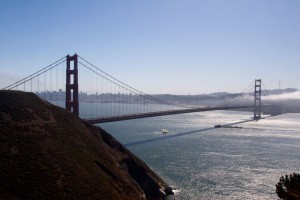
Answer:
<svg viewBox="0 0 300 200"><path fill-rule="evenodd" d="M71 67L71 64L73 65ZM79 116L78 102L78 56L67 55L66 109Z"/></svg>

